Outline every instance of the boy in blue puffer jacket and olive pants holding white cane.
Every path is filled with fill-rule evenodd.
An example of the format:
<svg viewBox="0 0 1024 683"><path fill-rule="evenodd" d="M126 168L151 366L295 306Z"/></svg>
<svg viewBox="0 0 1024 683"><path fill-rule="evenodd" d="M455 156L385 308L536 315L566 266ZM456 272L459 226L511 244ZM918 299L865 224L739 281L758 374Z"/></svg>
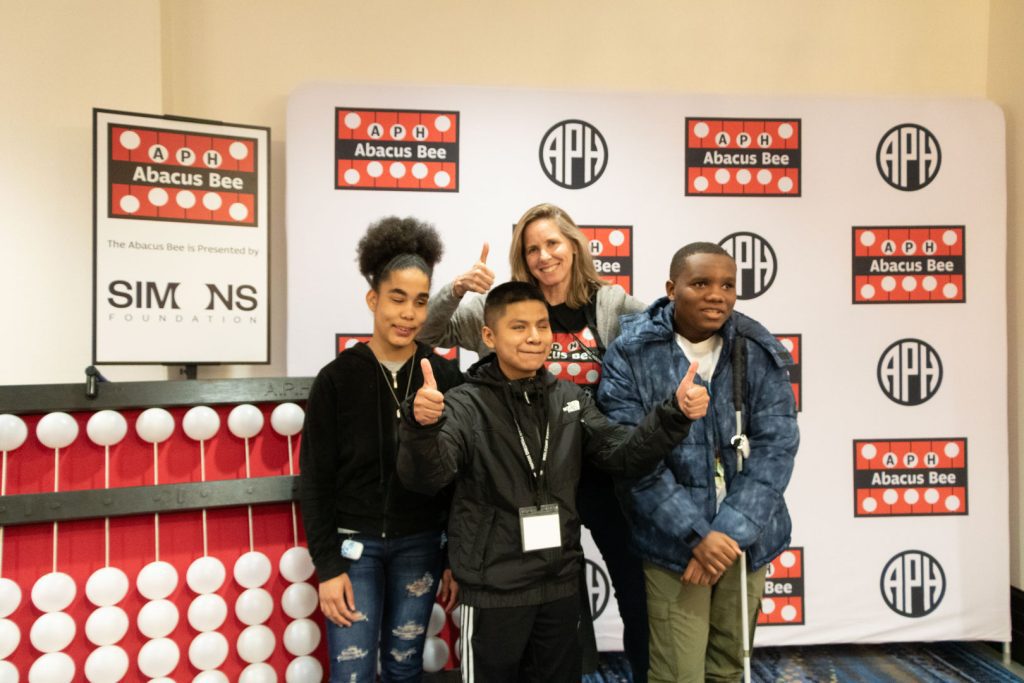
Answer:
<svg viewBox="0 0 1024 683"><path fill-rule="evenodd" d="M598 404L636 424L671 396L691 361L711 407L657 469L624 482L632 547L644 560L650 681L737 681L742 676L739 558L749 567L750 633L768 563L790 543L782 495L800 442L786 367L793 359L759 323L734 312L736 263L698 242L672 259L667 297L623 318L604 357ZM750 458L736 470L732 358L745 346L742 431Z"/></svg>

